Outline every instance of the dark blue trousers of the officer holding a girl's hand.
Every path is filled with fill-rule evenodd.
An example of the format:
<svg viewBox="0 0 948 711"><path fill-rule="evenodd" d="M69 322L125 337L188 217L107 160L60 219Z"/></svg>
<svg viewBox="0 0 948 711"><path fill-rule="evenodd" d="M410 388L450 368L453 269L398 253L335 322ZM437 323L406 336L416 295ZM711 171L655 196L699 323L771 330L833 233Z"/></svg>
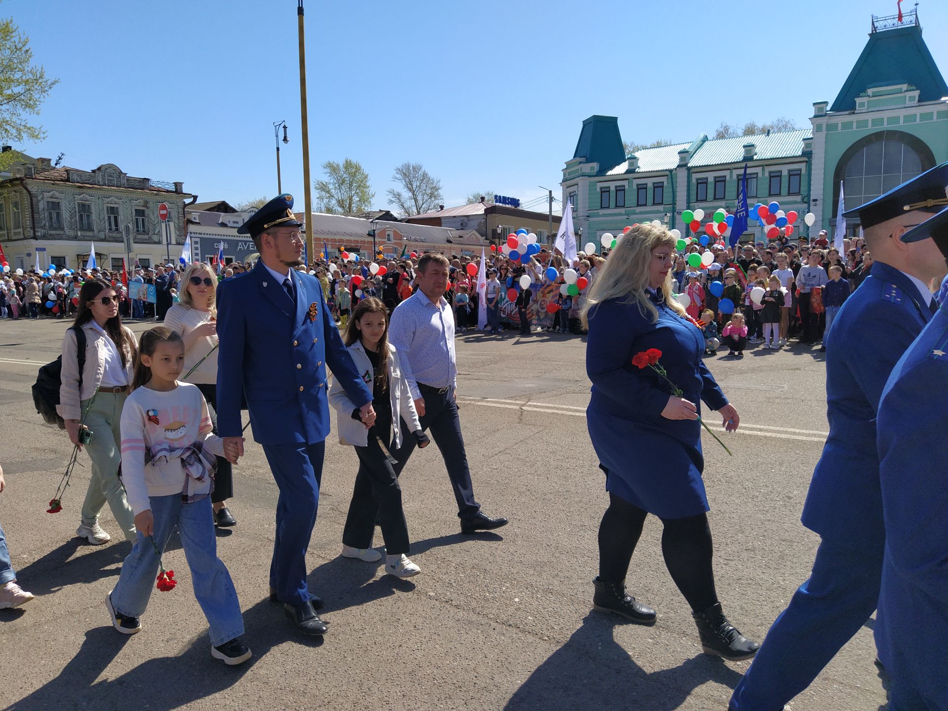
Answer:
<svg viewBox="0 0 948 711"><path fill-rule="evenodd" d="M270 587L277 592L280 602L289 605L302 605L310 599L306 587L306 548L316 524L325 450L325 442L264 445L266 461L280 489Z"/></svg>

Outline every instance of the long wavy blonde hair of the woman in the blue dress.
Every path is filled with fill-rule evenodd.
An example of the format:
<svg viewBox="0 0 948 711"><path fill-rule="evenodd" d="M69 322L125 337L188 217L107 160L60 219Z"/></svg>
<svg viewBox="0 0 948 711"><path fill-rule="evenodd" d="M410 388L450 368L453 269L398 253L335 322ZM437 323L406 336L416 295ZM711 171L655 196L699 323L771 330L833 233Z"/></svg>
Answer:
<svg viewBox="0 0 948 711"><path fill-rule="evenodd" d="M599 274L590 287L580 319L583 328L589 328L590 311L597 304L613 299L635 303L644 317L652 323L658 320L658 309L648 299L648 274L651 269L652 251L660 246L674 249L675 237L665 228L653 225L636 225L619 238L619 244L609 253L609 259L599 267ZM674 252L673 252L674 253ZM671 264L672 266L674 264ZM665 295L665 304L680 316L684 307L671 298L671 270L659 289Z"/></svg>

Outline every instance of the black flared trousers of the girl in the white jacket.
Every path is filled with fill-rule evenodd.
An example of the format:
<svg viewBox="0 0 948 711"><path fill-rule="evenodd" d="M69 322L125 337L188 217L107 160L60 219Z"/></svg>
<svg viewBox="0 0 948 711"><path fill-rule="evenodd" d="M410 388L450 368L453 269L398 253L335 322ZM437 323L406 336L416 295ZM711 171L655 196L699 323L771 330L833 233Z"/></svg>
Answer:
<svg viewBox="0 0 948 711"><path fill-rule="evenodd" d="M411 436L408 432L406 434ZM402 487L398 485L398 475L392 463L378 446L374 430L369 432L368 447L356 447L356 456L356 487L342 529L342 542L353 548L372 546L377 515L386 553L389 556L408 555L409 526L402 508Z"/></svg>

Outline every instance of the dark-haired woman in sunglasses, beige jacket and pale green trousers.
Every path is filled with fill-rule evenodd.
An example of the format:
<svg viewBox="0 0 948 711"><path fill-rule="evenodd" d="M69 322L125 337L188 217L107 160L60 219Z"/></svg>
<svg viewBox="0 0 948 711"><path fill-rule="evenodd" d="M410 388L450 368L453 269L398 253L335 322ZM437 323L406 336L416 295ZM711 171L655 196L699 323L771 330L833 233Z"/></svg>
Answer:
<svg viewBox="0 0 948 711"><path fill-rule="evenodd" d="M118 481L119 423L132 382L137 346L135 334L121 324L118 301L116 290L104 279L89 279L82 284L76 320L63 337L60 404L56 407L65 421L69 441L80 449L84 444L92 460L92 476L76 535L96 545L111 538L99 525L106 503L125 538L137 538L135 514ZM82 374L76 340L79 331L85 337ZM92 431L91 439L81 439L82 429Z"/></svg>

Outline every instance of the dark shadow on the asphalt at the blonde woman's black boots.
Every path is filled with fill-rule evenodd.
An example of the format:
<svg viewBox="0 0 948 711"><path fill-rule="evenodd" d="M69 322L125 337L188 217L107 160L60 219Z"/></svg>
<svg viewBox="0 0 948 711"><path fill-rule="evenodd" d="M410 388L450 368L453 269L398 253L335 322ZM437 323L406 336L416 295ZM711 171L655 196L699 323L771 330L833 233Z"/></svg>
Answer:
<svg viewBox="0 0 948 711"><path fill-rule="evenodd" d="M737 671L707 654L647 673L613 639L615 625L621 624L616 619L590 612L569 641L520 686L505 709L671 711L702 684L711 681L734 688L740 681ZM654 642L649 640L649 644Z"/></svg>

